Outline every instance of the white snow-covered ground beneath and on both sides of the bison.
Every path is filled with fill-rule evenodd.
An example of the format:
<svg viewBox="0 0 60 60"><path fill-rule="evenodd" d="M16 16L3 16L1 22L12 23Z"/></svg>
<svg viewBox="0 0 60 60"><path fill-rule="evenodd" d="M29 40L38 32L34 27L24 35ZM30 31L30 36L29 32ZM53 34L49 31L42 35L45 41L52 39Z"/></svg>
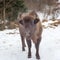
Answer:
<svg viewBox="0 0 60 60"><path fill-rule="evenodd" d="M22 52L19 30L0 31L0 60L36 60L32 43L32 58L27 58L28 48ZM60 60L60 26L43 29L40 44L41 60Z"/></svg>

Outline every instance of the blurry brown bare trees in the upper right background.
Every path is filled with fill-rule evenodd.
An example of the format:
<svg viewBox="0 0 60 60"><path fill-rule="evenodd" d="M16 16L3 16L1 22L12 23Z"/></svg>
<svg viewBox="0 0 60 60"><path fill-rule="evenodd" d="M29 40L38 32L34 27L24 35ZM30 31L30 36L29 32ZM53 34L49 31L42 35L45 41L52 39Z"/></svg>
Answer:
<svg viewBox="0 0 60 60"><path fill-rule="evenodd" d="M56 13L56 11L58 9L55 10L57 1L58 0L24 0L28 9L42 12L44 14L44 18L48 18L49 15L54 18L57 16L58 13Z"/></svg>

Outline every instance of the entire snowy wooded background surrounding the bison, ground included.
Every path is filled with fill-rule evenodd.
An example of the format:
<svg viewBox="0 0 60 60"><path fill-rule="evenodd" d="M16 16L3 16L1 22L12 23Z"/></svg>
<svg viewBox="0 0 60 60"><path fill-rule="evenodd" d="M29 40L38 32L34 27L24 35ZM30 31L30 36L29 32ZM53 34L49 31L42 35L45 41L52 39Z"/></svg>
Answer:
<svg viewBox="0 0 60 60"><path fill-rule="evenodd" d="M22 51L18 14L35 11L42 24L39 60L60 60L60 0L0 0L0 60L37 60L32 41ZM34 37L35 38L35 37Z"/></svg>

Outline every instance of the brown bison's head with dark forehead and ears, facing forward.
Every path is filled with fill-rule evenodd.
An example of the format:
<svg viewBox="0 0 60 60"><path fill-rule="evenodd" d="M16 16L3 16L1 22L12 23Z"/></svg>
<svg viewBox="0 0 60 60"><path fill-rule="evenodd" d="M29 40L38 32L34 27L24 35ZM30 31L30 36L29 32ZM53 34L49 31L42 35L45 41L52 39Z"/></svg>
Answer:
<svg viewBox="0 0 60 60"><path fill-rule="evenodd" d="M31 37L35 32L36 24L39 22L36 16L32 12L24 16L23 14L20 15L19 23L24 27L27 37Z"/></svg>

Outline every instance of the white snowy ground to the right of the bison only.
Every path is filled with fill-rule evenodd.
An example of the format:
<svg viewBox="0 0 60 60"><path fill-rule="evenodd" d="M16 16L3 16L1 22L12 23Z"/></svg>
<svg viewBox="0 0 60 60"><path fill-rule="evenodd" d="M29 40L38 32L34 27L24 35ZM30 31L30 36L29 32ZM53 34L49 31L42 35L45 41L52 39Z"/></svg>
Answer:
<svg viewBox="0 0 60 60"><path fill-rule="evenodd" d="M60 60L60 26L43 31L40 52L41 60Z"/></svg>

